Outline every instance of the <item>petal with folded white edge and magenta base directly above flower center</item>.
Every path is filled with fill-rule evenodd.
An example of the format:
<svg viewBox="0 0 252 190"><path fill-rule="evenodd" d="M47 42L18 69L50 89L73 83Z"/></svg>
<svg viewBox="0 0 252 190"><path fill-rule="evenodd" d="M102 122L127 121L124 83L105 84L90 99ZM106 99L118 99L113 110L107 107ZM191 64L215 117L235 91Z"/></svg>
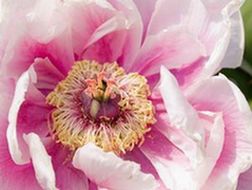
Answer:
<svg viewBox="0 0 252 190"><path fill-rule="evenodd" d="M131 64L142 37L141 18L131 1L67 3L77 59Z"/></svg>

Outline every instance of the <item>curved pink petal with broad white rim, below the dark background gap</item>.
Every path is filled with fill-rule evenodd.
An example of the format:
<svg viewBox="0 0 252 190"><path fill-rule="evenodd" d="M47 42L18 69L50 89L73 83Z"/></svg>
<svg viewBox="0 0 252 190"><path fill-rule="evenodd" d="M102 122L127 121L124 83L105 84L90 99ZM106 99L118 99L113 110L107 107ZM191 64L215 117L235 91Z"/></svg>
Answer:
<svg viewBox="0 0 252 190"><path fill-rule="evenodd" d="M197 110L221 112L225 124L223 149L205 188L235 187L252 162L252 117L245 97L224 76L216 76L202 81L189 100Z"/></svg>

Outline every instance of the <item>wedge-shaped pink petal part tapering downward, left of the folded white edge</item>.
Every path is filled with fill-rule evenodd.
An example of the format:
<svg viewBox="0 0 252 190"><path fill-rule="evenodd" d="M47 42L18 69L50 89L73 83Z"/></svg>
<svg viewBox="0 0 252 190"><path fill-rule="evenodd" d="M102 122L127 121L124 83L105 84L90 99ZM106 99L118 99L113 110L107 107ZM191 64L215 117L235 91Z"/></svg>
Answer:
<svg viewBox="0 0 252 190"><path fill-rule="evenodd" d="M81 57L89 38L99 26L113 17L116 10L103 0L66 1L65 3L72 26L74 52L77 57Z"/></svg>

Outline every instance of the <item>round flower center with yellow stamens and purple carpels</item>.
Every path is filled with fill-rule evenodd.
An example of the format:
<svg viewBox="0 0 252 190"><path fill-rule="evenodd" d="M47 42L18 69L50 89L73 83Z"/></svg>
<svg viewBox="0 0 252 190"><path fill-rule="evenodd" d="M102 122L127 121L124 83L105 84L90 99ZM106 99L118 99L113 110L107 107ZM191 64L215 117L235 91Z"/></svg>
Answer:
<svg viewBox="0 0 252 190"><path fill-rule="evenodd" d="M155 122L145 77L116 63L76 62L47 96L54 107L49 128L56 142L75 150L93 142L117 154L144 141Z"/></svg>

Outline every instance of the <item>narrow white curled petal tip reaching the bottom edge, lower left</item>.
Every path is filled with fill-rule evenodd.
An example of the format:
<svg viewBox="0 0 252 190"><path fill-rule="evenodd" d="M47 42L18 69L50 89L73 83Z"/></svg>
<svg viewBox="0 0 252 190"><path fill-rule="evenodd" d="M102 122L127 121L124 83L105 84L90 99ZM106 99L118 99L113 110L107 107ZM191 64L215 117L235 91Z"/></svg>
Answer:
<svg viewBox="0 0 252 190"><path fill-rule="evenodd" d="M55 190L56 180L51 157L47 154L39 136L35 133L29 133L24 135L24 140L29 147L30 158L40 186L43 189Z"/></svg>

